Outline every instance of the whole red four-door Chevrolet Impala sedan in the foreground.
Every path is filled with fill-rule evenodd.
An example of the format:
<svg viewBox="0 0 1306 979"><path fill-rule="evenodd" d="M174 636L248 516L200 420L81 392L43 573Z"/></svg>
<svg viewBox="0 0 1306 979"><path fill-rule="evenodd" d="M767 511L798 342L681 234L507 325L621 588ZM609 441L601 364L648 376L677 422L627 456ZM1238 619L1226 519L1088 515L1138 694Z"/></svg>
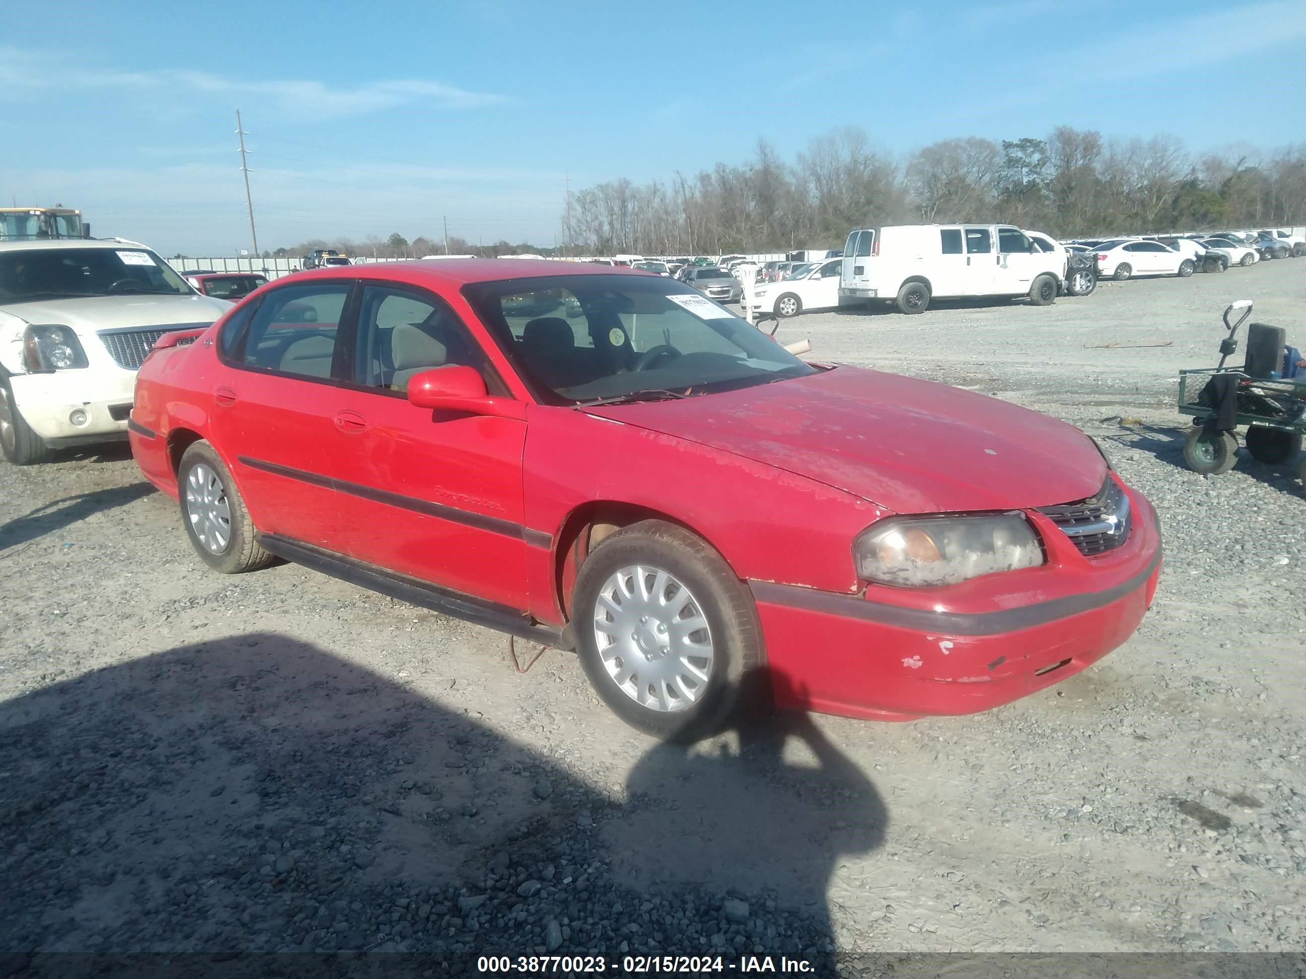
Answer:
<svg viewBox="0 0 1306 979"><path fill-rule="evenodd" d="M743 687L885 719L1006 704L1124 642L1161 564L1077 428L803 363L599 265L281 279L155 345L131 441L215 570L282 557L575 649L662 738Z"/></svg>

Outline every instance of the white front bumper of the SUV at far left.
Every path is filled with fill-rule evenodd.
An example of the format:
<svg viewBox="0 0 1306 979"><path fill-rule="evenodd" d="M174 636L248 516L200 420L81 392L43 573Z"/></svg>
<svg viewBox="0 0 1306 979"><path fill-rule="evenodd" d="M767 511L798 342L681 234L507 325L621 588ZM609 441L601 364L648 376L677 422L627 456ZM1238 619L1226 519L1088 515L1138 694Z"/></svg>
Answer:
<svg viewBox="0 0 1306 979"><path fill-rule="evenodd" d="M136 389L136 372L120 368L81 368L9 377L14 407L37 435L51 444L99 441L127 432ZM73 412L85 414L76 424Z"/></svg>

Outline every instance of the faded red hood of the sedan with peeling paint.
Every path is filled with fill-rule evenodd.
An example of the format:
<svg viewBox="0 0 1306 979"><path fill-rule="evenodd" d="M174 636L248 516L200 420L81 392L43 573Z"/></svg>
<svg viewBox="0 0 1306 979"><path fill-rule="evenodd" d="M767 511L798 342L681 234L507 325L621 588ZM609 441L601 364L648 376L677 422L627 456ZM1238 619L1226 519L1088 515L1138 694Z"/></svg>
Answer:
<svg viewBox="0 0 1306 979"><path fill-rule="evenodd" d="M1074 426L947 384L855 367L588 411L897 513L1050 506L1087 499L1106 479L1102 456Z"/></svg>

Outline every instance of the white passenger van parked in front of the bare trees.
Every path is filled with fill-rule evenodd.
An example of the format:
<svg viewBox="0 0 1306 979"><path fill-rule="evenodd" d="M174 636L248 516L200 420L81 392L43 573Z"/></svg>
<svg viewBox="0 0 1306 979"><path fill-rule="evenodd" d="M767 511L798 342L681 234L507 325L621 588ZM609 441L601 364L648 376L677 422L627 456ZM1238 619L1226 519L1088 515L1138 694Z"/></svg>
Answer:
<svg viewBox="0 0 1306 979"><path fill-rule="evenodd" d="M895 225L853 231L844 245L841 300L887 300L921 313L935 296L1029 296L1060 291L1063 257L1011 225Z"/></svg>

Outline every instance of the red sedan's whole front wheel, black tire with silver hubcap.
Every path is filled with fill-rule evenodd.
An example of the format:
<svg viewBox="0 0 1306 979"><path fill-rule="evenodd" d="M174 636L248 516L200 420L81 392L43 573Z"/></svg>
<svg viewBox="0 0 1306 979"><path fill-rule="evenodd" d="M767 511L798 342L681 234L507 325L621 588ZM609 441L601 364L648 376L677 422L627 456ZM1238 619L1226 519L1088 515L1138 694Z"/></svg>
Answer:
<svg viewBox="0 0 1306 979"><path fill-rule="evenodd" d="M704 540L663 521L603 539L576 576L572 621L598 696L662 740L720 731L761 662L748 591Z"/></svg>

